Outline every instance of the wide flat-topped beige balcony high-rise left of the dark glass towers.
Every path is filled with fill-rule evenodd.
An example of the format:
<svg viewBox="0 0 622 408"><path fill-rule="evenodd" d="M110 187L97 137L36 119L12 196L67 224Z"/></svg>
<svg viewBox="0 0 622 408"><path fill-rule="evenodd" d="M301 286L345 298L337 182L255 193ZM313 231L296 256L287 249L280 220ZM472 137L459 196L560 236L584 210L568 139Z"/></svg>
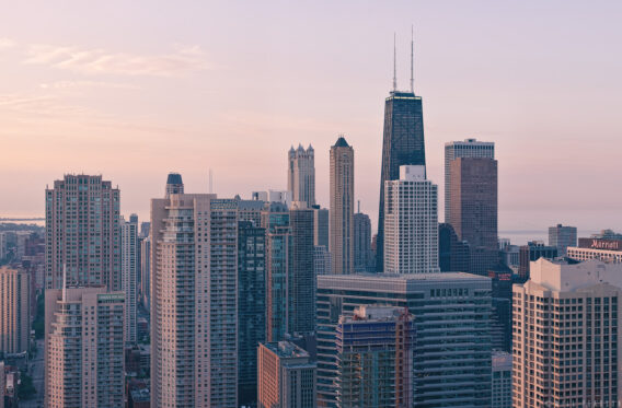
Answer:
<svg viewBox="0 0 622 408"><path fill-rule="evenodd" d="M237 242L235 200L151 200L153 406L238 406Z"/></svg>

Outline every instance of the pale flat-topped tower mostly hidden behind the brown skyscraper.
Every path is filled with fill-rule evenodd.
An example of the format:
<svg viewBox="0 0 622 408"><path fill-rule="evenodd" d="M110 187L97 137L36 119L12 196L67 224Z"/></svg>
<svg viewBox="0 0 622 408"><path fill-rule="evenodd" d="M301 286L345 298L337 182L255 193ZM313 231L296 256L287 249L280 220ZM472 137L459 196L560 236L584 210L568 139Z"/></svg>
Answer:
<svg viewBox="0 0 622 408"><path fill-rule="evenodd" d="M445 143L445 222L451 219L451 162L458 158L495 159L495 143L476 139Z"/></svg>

